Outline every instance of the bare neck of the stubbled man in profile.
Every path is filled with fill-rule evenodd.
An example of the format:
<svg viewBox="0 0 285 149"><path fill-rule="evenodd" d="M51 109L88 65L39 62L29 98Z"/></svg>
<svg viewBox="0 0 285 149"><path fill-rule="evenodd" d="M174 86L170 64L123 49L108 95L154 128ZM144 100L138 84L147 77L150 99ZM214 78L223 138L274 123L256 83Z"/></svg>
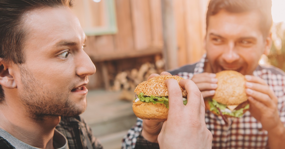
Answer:
<svg viewBox="0 0 285 149"><path fill-rule="evenodd" d="M52 138L59 116L35 118L27 113L23 104L5 101L0 104L0 119L0 128L22 142L38 148L53 148Z"/></svg>

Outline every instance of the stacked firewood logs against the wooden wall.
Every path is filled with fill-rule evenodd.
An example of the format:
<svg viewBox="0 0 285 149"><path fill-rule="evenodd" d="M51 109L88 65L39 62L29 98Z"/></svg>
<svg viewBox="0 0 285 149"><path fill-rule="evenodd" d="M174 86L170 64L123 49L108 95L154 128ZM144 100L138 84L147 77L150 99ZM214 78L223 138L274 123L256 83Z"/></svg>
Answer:
<svg viewBox="0 0 285 149"><path fill-rule="evenodd" d="M113 91L122 91L121 99L133 100L135 87L146 81L150 74L160 74L162 71L164 71L164 61L162 59L156 60L155 63L146 62L139 69L133 68L119 72L115 76L112 89Z"/></svg>

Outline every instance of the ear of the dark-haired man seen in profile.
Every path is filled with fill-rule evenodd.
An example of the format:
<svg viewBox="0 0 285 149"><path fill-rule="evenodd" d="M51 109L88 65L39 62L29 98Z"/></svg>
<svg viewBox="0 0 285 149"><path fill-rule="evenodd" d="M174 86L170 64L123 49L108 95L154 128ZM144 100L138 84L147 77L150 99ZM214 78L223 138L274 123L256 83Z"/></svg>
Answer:
<svg viewBox="0 0 285 149"><path fill-rule="evenodd" d="M9 74L8 68L11 68L11 63L5 62L0 58L0 85L7 89L14 89L17 85L13 76Z"/></svg>

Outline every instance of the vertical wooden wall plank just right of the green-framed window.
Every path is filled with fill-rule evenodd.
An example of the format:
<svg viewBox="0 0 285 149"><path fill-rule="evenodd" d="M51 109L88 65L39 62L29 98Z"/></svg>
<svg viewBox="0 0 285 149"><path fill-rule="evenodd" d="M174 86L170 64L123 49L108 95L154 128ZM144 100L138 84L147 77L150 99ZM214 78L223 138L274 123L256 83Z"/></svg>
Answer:
<svg viewBox="0 0 285 149"><path fill-rule="evenodd" d="M116 0L118 33L114 35L115 51L132 51L134 49L133 27L130 0Z"/></svg>

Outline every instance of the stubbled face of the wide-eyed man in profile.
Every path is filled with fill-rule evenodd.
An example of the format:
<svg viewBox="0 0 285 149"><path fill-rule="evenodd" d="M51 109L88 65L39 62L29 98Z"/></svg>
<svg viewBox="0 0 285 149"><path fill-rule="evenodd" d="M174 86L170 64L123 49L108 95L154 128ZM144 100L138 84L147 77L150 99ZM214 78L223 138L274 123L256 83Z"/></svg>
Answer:
<svg viewBox="0 0 285 149"><path fill-rule="evenodd" d="M36 116L81 114L86 109L84 85L96 69L83 51L86 35L78 18L68 8L43 8L23 20L26 62L15 73L19 98Z"/></svg>

